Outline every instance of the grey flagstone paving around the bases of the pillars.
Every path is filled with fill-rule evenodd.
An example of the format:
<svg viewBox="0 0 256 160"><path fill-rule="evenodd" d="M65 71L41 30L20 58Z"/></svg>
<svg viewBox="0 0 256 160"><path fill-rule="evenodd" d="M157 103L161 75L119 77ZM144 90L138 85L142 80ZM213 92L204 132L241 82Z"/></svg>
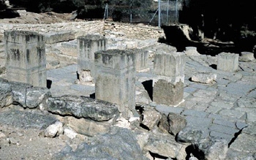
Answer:
<svg viewBox="0 0 256 160"><path fill-rule="evenodd" d="M156 78L151 74L152 65L149 66L148 72L137 74L138 82ZM162 113L185 115L187 126L202 130L203 137L227 140L230 145L227 159L253 158L256 156L256 61L239 62L237 72L222 72L216 66L217 57L186 56L184 102L177 107L149 104ZM75 83L76 71L76 64L48 70L53 96L94 94L92 83ZM192 82L192 75L199 72L214 73L217 80L211 84Z"/></svg>

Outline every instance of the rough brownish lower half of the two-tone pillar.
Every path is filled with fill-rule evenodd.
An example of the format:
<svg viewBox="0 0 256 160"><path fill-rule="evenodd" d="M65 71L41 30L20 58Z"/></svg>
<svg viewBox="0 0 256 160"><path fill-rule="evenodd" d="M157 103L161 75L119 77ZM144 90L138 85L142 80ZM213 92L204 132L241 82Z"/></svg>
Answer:
<svg viewBox="0 0 256 160"><path fill-rule="evenodd" d="M157 104L176 105L183 100L184 83L175 85L166 80L158 80L153 88L153 101Z"/></svg>

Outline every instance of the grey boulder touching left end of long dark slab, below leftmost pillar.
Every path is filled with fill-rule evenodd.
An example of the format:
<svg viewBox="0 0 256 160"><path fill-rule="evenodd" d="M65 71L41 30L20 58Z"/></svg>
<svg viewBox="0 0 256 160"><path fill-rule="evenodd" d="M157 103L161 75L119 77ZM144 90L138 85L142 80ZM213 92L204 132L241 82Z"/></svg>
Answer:
<svg viewBox="0 0 256 160"><path fill-rule="evenodd" d="M48 88L32 87L26 89L26 107L35 108L39 105L46 107L46 100L51 96Z"/></svg>

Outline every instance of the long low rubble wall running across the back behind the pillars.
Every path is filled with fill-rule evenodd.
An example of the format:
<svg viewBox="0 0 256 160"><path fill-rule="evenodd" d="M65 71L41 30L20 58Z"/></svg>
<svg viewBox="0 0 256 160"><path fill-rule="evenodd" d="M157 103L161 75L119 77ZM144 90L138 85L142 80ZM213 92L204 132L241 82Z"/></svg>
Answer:
<svg viewBox="0 0 256 160"><path fill-rule="evenodd" d="M38 34L58 34L70 31L75 38L86 34L104 34L110 37L125 37L129 39L159 39L165 37L162 28L129 23L114 23L102 20L51 24L6 24L0 23L0 36L7 30L35 31Z"/></svg>

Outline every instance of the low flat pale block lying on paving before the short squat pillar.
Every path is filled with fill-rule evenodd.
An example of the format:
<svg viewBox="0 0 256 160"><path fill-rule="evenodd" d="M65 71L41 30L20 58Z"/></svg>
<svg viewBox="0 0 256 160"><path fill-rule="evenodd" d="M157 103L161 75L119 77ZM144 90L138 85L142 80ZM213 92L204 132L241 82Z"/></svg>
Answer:
<svg viewBox="0 0 256 160"><path fill-rule="evenodd" d="M217 74L214 73L199 73L197 75L193 75L191 80L197 83L213 83L217 79Z"/></svg>

